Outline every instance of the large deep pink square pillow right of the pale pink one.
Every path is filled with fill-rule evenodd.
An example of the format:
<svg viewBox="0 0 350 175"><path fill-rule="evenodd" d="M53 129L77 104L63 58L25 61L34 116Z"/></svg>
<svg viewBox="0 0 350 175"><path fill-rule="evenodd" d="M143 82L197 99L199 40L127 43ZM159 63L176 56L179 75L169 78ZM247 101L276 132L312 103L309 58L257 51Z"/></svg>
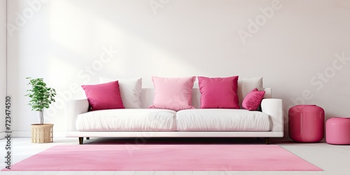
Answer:
<svg viewBox="0 0 350 175"><path fill-rule="evenodd" d="M198 76L201 109L239 109L238 76L208 78Z"/></svg>

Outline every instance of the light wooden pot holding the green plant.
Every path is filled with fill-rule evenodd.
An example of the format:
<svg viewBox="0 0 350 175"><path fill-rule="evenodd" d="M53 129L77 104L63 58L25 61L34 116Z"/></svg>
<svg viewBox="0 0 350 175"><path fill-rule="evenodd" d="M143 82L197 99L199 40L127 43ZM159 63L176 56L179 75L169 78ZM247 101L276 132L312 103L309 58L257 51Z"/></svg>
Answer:
<svg viewBox="0 0 350 175"><path fill-rule="evenodd" d="M53 124L31 124L31 143L53 142Z"/></svg>

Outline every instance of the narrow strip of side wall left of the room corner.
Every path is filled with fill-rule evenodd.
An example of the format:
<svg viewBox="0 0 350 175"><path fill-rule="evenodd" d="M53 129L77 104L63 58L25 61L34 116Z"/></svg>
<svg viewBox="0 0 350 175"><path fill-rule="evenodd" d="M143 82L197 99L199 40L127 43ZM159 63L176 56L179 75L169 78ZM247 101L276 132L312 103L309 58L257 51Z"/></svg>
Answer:
<svg viewBox="0 0 350 175"><path fill-rule="evenodd" d="M5 111L6 97L6 0L0 0L0 111ZM0 139L5 137L5 118L0 119Z"/></svg>

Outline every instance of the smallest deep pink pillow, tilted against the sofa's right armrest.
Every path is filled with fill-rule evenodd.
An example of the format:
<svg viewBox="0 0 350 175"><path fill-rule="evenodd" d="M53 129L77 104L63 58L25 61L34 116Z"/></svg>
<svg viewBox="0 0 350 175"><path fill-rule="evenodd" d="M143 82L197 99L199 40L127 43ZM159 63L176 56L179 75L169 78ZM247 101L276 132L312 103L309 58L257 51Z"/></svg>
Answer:
<svg viewBox="0 0 350 175"><path fill-rule="evenodd" d="M255 111L260 106L262 98L264 98L265 91L259 91L257 88L251 90L242 102L242 107L249 111Z"/></svg>

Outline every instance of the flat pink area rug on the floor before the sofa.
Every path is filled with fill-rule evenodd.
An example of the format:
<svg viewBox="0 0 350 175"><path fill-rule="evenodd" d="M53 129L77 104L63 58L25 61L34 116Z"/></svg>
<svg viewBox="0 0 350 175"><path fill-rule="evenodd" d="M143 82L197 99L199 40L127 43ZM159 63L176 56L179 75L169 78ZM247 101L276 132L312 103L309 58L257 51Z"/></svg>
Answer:
<svg viewBox="0 0 350 175"><path fill-rule="evenodd" d="M277 145L217 144L53 146L11 170L322 171Z"/></svg>

